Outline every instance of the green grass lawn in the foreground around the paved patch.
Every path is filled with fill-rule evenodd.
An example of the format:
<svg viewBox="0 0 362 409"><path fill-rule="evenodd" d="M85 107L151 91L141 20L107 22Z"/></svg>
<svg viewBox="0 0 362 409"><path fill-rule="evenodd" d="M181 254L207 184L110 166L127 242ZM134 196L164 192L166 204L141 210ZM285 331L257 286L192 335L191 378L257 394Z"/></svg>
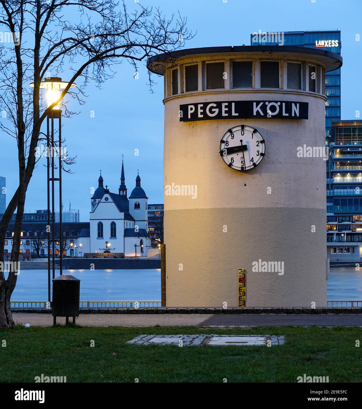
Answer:
<svg viewBox="0 0 362 409"><path fill-rule="evenodd" d="M285 335L278 346L127 345L140 334ZM362 382L362 330L358 327L64 327L0 330L0 382ZM90 341L95 347L90 347ZM361 346L355 346L360 339ZM116 355L113 355L116 353Z"/></svg>

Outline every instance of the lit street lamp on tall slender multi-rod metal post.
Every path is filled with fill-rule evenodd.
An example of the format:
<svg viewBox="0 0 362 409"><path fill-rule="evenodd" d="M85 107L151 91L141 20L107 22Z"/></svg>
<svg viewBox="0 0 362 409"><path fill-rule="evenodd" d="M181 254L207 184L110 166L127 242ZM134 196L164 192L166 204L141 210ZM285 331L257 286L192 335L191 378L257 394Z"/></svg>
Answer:
<svg viewBox="0 0 362 409"><path fill-rule="evenodd" d="M49 77L41 81L39 88L46 90L48 108L59 100L62 90L66 88L68 82L62 81L59 77ZM34 83L30 84L34 87ZM75 87L72 84L71 87ZM52 183L52 276L55 278L55 212L54 212L54 182L59 182L59 268L63 274L63 226L62 226L62 200L61 200L61 101L54 105L48 112L47 117L47 190L48 190L48 299L50 302L50 182ZM54 178L54 119L59 120L59 178ZM51 177L50 177L51 168Z"/></svg>

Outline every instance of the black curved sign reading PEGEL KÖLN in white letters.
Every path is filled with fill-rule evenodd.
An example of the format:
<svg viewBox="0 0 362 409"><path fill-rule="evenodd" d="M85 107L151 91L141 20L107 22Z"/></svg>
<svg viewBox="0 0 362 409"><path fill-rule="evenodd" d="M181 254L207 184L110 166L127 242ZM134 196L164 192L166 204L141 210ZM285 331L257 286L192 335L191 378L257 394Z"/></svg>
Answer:
<svg viewBox="0 0 362 409"><path fill-rule="evenodd" d="M308 119L308 102L218 101L180 105L180 122L209 119Z"/></svg>

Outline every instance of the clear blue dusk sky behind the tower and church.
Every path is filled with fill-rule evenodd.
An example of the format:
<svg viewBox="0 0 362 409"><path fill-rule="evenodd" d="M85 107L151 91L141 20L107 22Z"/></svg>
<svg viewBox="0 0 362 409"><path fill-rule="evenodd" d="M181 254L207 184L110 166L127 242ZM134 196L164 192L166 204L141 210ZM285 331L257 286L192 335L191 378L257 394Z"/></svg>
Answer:
<svg viewBox="0 0 362 409"><path fill-rule="evenodd" d="M186 48L222 45L249 45L253 31L292 31L340 29L342 41L342 119L354 119L362 111L362 2L360 0L149 0L143 5L159 6L170 16L179 11L188 18L188 28L197 31ZM131 11L134 0L126 1ZM147 70L134 69L127 63L116 67L114 79L99 90L86 88L86 103L70 109L79 115L63 121L62 134L67 139L68 154L77 155L72 174L63 173L64 208L80 210L80 220L89 220L90 189L97 187L99 170L104 184L118 193L122 153L128 192L135 186L137 169L149 203L163 203L163 77L154 76L154 93L147 86ZM63 75L63 79L66 74ZM94 110L95 117L90 117ZM6 177L7 203L18 183L16 141L1 138L0 175ZM134 149L139 149L139 156ZM45 163L45 162L44 162ZM46 169L38 165L27 191L25 209L46 208ZM57 200L56 200L57 203ZM57 207L58 208L58 207Z"/></svg>

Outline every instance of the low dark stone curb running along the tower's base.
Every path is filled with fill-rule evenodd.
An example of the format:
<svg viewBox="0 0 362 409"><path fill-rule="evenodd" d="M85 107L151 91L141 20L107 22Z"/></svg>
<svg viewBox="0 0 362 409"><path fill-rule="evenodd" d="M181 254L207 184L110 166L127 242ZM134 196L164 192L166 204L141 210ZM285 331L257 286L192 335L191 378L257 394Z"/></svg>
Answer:
<svg viewBox="0 0 362 409"><path fill-rule="evenodd" d="M13 308L12 312L51 314L46 308ZM361 307L325 308L80 308L80 314L362 314Z"/></svg>

